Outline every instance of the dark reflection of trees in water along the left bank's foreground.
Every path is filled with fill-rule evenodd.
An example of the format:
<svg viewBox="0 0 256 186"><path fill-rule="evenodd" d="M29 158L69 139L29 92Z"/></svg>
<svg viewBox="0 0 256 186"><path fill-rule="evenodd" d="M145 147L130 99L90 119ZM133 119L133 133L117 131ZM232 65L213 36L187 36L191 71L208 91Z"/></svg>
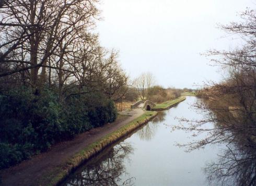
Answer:
<svg viewBox="0 0 256 186"><path fill-rule="evenodd" d="M87 163L66 185L133 185L135 178L121 183L122 176L127 174L124 159L132 152L133 148L129 143L121 142L103 156L96 157L94 162Z"/></svg>

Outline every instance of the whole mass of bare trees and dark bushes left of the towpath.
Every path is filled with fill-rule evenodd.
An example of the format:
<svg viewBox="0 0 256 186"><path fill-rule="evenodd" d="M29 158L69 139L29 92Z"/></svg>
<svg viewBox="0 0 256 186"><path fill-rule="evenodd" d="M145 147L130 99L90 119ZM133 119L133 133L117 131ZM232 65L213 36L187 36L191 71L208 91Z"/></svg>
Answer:
<svg viewBox="0 0 256 186"><path fill-rule="evenodd" d="M127 92L97 0L0 1L0 168L112 122Z"/></svg>

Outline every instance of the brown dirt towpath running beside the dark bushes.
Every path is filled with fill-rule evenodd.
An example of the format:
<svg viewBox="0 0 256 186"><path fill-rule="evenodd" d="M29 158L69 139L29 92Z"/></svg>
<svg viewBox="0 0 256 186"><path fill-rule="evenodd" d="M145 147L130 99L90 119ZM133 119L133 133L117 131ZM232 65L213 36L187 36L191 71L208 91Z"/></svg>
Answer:
<svg viewBox="0 0 256 186"><path fill-rule="evenodd" d="M36 185L42 175L66 162L68 158L83 150L87 145L99 140L105 135L118 130L144 113L142 109L122 112L115 122L103 127L92 129L79 134L74 140L54 145L50 151L33 156L31 159L0 171L2 182L0 185Z"/></svg>

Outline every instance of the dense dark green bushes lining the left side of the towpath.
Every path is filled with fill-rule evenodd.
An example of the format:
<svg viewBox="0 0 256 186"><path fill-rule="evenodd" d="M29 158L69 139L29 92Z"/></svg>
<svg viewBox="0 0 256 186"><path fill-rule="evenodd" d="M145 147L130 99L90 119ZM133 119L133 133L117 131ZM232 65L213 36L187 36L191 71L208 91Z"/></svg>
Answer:
<svg viewBox="0 0 256 186"><path fill-rule="evenodd" d="M117 117L113 102L101 94L78 94L64 103L58 99L49 89L25 86L0 93L0 168Z"/></svg>

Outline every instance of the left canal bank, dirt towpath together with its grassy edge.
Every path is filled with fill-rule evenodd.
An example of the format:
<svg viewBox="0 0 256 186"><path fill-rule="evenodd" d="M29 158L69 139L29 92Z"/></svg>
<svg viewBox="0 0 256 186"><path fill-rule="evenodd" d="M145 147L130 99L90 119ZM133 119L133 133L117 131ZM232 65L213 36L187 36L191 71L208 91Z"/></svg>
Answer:
<svg viewBox="0 0 256 186"><path fill-rule="evenodd" d="M48 152L0 170L0 185L55 185L80 163L156 115L141 109L127 111L113 123L79 134L74 140L56 144Z"/></svg>

